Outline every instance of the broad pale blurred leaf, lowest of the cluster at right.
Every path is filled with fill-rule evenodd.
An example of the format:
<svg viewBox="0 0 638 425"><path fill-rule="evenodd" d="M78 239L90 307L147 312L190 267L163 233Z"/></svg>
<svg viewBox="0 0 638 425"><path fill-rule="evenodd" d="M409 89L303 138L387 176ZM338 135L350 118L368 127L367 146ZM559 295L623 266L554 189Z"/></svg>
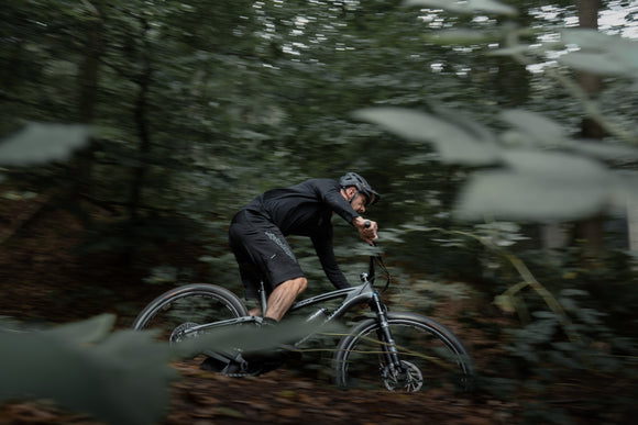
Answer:
<svg viewBox="0 0 638 425"><path fill-rule="evenodd" d="M602 165L568 154L512 149L509 169L473 175L457 214L465 220L573 220L612 202L616 180Z"/></svg>

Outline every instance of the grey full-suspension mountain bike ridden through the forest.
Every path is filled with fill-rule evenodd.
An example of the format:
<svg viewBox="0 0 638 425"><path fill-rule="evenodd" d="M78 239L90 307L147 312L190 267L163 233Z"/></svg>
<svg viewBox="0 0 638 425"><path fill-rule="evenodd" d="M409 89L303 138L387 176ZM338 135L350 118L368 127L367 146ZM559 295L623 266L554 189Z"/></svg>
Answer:
<svg viewBox="0 0 638 425"><path fill-rule="evenodd" d="M381 290L374 288L376 267L386 279ZM451 385L468 389L474 371L473 362L459 338L432 318L417 313L394 312L382 302L381 294L389 288L392 279L381 255L370 256L369 269L360 277L361 284L296 302L287 316L315 309L306 314L302 336L296 335L296 340L285 349L302 355L305 347L314 339L323 337L334 342L331 369L334 382L340 387L385 387L389 391L405 392ZM267 303L263 288L260 298L262 311L265 312ZM317 310L317 306L330 301L339 302L332 310ZM369 306L370 313L349 331L323 332L346 312L362 305ZM282 321L282 325L286 320ZM233 292L216 284L193 283L169 290L153 300L138 315L133 328L160 328L160 338L179 344L209 332L256 327L262 322L262 317L249 315L245 304ZM226 348L216 350L213 346L197 354L209 359L223 359L227 366L239 362L241 367L235 367L233 372L229 372L228 368L220 369L237 377L257 376L283 362L268 356L265 359L257 356L246 361L241 356L241 349L229 354Z"/></svg>

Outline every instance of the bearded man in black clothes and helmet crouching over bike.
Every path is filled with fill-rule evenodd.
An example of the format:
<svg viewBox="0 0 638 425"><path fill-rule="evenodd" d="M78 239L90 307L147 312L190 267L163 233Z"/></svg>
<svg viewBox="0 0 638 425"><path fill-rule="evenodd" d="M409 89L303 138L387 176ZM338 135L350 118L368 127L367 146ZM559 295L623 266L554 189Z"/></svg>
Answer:
<svg viewBox="0 0 638 425"><path fill-rule="evenodd" d="M240 266L246 299L256 299L263 281L267 294L265 323L282 320L306 289L306 279L285 236L308 236L328 279L337 287L350 283L337 264L332 249L333 213L339 214L372 244L377 224L363 219L380 195L363 177L348 172L339 181L310 179L302 183L262 193L233 217L229 242ZM366 225L366 223L369 223ZM260 309L251 311L260 315Z"/></svg>

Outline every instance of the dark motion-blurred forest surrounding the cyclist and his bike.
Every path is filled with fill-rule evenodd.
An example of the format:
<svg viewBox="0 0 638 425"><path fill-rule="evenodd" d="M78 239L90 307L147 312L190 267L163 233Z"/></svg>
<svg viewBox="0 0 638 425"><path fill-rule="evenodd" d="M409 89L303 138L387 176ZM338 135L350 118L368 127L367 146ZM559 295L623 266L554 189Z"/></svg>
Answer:
<svg viewBox="0 0 638 425"><path fill-rule="evenodd" d="M629 424L638 414L638 1L4 0L0 424ZM472 391L233 379L131 324L242 293L235 212L364 176L392 309ZM370 248L336 217L356 282ZM330 290L307 238L309 287ZM173 365L173 366L172 366Z"/></svg>

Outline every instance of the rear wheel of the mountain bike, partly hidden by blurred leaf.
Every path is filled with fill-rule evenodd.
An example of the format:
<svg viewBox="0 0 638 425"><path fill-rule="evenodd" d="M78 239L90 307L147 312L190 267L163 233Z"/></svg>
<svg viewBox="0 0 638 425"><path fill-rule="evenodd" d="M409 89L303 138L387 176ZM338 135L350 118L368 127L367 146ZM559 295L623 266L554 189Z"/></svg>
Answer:
<svg viewBox="0 0 638 425"><path fill-rule="evenodd" d="M226 288L191 283L164 292L142 310L133 329L158 328L158 339L176 342L179 326L248 316L244 303Z"/></svg>

